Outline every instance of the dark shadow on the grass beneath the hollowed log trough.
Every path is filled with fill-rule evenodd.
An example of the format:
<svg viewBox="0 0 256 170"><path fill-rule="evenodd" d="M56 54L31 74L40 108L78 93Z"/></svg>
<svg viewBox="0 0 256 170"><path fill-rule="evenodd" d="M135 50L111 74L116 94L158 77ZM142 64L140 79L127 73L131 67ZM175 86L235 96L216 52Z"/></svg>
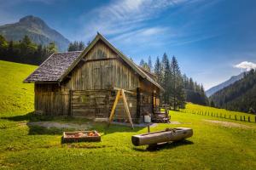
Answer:
<svg viewBox="0 0 256 170"><path fill-rule="evenodd" d="M175 141L175 142L168 142L165 144L151 144L148 145L147 149L141 149L141 148L133 148L133 150L137 150L137 151L158 151L158 150L164 150L164 149L174 149L178 146L183 146L183 145L188 145L188 144L194 144L192 141L183 139L180 141Z"/></svg>

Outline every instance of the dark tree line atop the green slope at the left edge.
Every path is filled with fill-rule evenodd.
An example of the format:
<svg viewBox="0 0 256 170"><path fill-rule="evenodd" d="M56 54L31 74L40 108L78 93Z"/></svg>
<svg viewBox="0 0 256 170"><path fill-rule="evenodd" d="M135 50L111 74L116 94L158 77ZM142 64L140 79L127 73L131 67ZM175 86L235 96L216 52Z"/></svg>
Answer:
<svg viewBox="0 0 256 170"><path fill-rule="evenodd" d="M58 51L55 42L43 46L25 36L20 41L7 41L0 35L0 59L31 65L40 65L49 54Z"/></svg>

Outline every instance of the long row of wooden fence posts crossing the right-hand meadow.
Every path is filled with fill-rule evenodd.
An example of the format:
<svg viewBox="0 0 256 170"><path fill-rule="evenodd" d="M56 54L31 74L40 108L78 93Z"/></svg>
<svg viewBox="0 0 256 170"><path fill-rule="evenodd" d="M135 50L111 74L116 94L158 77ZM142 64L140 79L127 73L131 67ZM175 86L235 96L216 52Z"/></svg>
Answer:
<svg viewBox="0 0 256 170"><path fill-rule="evenodd" d="M227 115L223 113L216 113L216 112L210 112L210 111L190 111L190 110L180 110L180 112L183 113L190 113L195 115L201 115L201 116L214 116L218 118L223 119L230 119L235 121L241 121L241 122L256 122L256 116L236 116L236 115Z"/></svg>

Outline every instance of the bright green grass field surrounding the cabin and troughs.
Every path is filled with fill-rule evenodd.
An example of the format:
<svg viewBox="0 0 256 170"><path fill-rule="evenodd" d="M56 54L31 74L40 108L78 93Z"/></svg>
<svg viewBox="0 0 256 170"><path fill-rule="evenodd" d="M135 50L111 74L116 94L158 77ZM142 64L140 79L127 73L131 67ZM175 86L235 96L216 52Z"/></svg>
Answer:
<svg viewBox="0 0 256 170"><path fill-rule="evenodd" d="M159 150L131 144L131 135L145 133L147 128L108 128L101 123L92 124L92 128L102 134L102 142L61 144L64 129L26 125L38 120L31 113L33 85L22 83L35 68L0 61L0 169L256 169L256 123L177 111L170 112L172 121L182 124L159 124L151 131L192 127L194 135ZM187 110L193 108L215 110L187 105ZM83 119L52 121L82 123Z"/></svg>

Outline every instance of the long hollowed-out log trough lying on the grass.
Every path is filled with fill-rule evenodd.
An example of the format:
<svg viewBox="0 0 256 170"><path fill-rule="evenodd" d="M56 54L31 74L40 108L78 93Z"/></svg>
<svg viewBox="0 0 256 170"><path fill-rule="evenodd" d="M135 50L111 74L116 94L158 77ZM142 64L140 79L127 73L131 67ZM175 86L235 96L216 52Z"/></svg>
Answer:
<svg viewBox="0 0 256 170"><path fill-rule="evenodd" d="M160 144L189 138L193 130L187 127L166 128L164 131L143 133L131 137L132 144L139 146L145 144Z"/></svg>

